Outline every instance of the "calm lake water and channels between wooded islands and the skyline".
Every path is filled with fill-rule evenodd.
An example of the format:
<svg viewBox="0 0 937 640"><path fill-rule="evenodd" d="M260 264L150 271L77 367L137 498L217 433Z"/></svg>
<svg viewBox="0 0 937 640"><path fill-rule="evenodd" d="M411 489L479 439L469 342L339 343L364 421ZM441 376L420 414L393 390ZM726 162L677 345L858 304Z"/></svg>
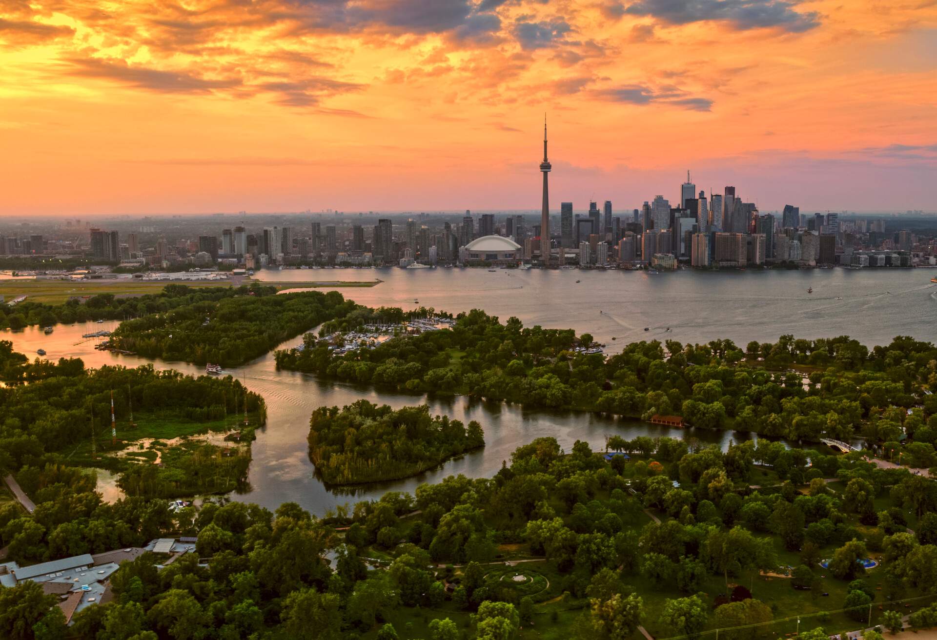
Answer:
<svg viewBox="0 0 937 640"><path fill-rule="evenodd" d="M706 342L729 337L736 344L797 337L852 335L867 345L885 344L895 335L932 340L937 319L937 288L926 270L860 271L824 269L800 272L703 273L681 271L647 275L632 272L508 271L479 269L381 270L264 270L259 279L384 280L371 289L342 289L363 305L419 305L458 313L482 308L501 320L516 316L526 325L572 327L604 342L608 352L641 339ZM580 280L576 283L576 280ZM812 287L813 293L807 293ZM838 299L841 298L841 299ZM599 311L602 311L600 314ZM136 366L147 361L94 349L94 339L82 334L113 329L116 322L59 325L52 335L31 327L4 333L14 348L34 357L81 357L85 365ZM644 331L644 327L649 331ZM671 328L666 332L667 327ZM612 340L615 336L617 340ZM293 338L281 348L302 342ZM157 368L175 368L201 375L203 369L186 363L152 361ZM567 450L576 439L593 448L607 436L632 439L639 435L691 437L727 447L747 434L701 429L669 429L633 420L618 420L578 412L530 411L515 405L487 403L465 397L427 398L388 394L289 371L277 371L272 353L226 371L267 401L268 422L253 444L250 490L232 499L257 502L274 509L296 501L322 514L336 504L377 498L385 491L412 491L423 482L437 482L453 473L490 477L519 445L542 436L556 437ZM439 469L391 483L369 484L352 490L332 490L316 478L306 454L309 415L321 405L343 406L359 399L394 408L428 402L435 413L468 422L478 420L487 446ZM118 429L120 425L118 424ZM110 484L110 482L109 482Z"/></svg>

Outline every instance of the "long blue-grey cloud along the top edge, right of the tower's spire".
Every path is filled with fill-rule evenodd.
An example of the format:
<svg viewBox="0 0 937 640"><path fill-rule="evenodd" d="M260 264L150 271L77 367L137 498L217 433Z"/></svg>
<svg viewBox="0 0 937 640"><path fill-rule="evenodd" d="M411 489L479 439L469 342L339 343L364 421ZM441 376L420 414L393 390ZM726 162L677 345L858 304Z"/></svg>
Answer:
<svg viewBox="0 0 937 640"><path fill-rule="evenodd" d="M794 9L797 4L797 0L637 0L625 11L672 24L720 20L739 29L778 27L801 32L820 24L818 13L800 13Z"/></svg>

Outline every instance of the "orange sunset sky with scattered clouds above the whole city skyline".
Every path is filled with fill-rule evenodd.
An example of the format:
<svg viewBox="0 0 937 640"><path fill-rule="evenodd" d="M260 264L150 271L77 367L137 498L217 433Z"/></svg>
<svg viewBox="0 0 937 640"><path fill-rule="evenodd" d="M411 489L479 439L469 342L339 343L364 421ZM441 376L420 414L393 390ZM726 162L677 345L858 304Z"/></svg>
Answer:
<svg viewBox="0 0 937 640"><path fill-rule="evenodd" d="M0 0L0 215L933 211L937 0Z"/></svg>

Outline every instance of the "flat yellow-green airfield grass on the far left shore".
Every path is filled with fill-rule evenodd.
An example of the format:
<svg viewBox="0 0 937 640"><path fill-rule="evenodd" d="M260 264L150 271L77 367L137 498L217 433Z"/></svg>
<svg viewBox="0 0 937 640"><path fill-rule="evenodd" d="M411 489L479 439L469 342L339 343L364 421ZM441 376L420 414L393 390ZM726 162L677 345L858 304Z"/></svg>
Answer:
<svg viewBox="0 0 937 640"><path fill-rule="evenodd" d="M141 282L140 280L0 280L0 295L7 301L21 295L28 296L27 302L61 305L75 296L113 293L119 296L137 296L159 293L170 282ZM186 282L188 287L230 287L231 282Z"/></svg>

